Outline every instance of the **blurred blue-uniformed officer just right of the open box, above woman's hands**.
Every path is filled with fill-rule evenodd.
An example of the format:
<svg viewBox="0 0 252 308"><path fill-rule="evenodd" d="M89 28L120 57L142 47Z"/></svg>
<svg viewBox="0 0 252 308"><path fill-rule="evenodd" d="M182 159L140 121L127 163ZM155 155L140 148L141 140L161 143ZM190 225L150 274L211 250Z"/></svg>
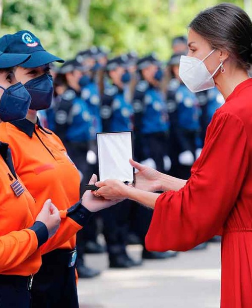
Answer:
<svg viewBox="0 0 252 308"><path fill-rule="evenodd" d="M169 123L164 95L160 90L163 71L154 55L139 59L137 65L140 81L136 86L133 106L138 159L151 159L155 169L165 172Z"/></svg>

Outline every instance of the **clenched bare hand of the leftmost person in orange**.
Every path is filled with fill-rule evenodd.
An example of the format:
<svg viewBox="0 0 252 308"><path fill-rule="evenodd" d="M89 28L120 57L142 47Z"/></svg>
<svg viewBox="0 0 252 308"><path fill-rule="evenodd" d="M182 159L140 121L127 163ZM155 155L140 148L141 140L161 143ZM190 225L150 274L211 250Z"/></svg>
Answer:
<svg viewBox="0 0 252 308"><path fill-rule="evenodd" d="M47 199L45 201L42 210L36 217L36 221L41 221L46 225L48 230L48 238L52 237L56 233L60 225L60 216L58 209L53 203L51 203L51 199Z"/></svg>

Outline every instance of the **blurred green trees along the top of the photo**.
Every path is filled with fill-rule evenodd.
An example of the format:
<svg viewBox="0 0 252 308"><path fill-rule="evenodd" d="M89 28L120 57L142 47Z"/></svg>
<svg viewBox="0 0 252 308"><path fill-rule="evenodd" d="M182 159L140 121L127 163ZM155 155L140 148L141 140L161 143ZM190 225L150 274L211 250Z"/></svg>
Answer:
<svg viewBox="0 0 252 308"><path fill-rule="evenodd" d="M202 9L221 0L4 0L0 34L21 29L34 32L43 45L70 58L91 44L113 54L153 50L170 55L170 41L186 34ZM229 1L242 7L243 0ZM1 6L1 0L0 0Z"/></svg>

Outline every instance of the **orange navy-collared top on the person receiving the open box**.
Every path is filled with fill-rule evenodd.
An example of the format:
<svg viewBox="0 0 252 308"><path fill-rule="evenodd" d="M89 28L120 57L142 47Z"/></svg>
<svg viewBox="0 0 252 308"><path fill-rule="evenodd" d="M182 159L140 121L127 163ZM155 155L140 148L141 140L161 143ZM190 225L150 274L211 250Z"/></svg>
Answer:
<svg viewBox="0 0 252 308"><path fill-rule="evenodd" d="M60 139L41 127L39 120L35 125L27 119L1 123L0 138L9 143L15 170L36 200L34 215L51 198L58 210L65 211L61 216L66 216L66 210L79 201L80 175ZM73 249L75 234L82 228L79 218L62 221L56 235L41 247L42 254L55 248Z"/></svg>

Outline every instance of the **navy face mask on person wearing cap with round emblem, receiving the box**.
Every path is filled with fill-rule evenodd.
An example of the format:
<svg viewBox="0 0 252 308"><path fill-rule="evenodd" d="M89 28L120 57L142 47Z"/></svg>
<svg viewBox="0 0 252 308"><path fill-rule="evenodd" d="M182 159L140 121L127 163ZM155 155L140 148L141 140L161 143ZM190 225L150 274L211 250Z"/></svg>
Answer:
<svg viewBox="0 0 252 308"><path fill-rule="evenodd" d="M39 77L27 81L24 86L32 98L30 109L43 110L51 106L53 95L51 75L43 74Z"/></svg>

